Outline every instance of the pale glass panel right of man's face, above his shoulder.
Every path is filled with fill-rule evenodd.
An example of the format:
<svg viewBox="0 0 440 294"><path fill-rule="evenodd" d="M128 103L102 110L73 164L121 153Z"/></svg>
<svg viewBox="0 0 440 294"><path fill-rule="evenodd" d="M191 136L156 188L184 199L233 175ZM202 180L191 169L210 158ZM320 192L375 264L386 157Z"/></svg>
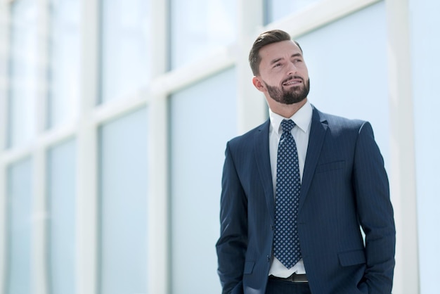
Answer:
<svg viewBox="0 0 440 294"><path fill-rule="evenodd" d="M309 68L309 100L323 112L369 120L389 163L384 1L297 38Z"/></svg>

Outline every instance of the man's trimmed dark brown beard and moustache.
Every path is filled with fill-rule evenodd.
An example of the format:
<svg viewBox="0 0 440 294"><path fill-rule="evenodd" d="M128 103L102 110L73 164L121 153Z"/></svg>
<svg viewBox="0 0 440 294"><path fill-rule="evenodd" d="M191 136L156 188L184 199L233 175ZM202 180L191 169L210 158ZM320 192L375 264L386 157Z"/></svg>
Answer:
<svg viewBox="0 0 440 294"><path fill-rule="evenodd" d="M293 78L302 79L302 77ZM285 82L287 82L287 80ZM302 79L302 82L302 85L292 87L292 89L289 90L285 90L283 87L269 86L266 82L264 82L264 85L273 100L283 104L293 104L303 101L307 98L307 95L309 95L310 79L307 79L307 82L304 82L304 79Z"/></svg>

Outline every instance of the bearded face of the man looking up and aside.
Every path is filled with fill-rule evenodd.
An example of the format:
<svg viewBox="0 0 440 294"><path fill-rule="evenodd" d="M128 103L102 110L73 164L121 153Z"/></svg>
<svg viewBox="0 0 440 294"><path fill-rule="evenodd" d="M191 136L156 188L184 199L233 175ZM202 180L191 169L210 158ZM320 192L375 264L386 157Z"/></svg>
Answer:
<svg viewBox="0 0 440 294"><path fill-rule="evenodd" d="M294 41L280 41L260 49L260 91L274 101L293 104L309 94L309 72L301 49ZM257 86L256 86L257 87ZM258 88L258 87L257 87Z"/></svg>

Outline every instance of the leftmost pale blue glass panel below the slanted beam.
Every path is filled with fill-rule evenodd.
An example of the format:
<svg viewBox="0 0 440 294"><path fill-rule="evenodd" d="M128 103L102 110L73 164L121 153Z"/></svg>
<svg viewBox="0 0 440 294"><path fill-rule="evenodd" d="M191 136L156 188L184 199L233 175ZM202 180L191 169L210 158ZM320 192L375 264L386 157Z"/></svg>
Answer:
<svg viewBox="0 0 440 294"><path fill-rule="evenodd" d="M8 168L8 265L7 294L32 293L32 162L16 162Z"/></svg>

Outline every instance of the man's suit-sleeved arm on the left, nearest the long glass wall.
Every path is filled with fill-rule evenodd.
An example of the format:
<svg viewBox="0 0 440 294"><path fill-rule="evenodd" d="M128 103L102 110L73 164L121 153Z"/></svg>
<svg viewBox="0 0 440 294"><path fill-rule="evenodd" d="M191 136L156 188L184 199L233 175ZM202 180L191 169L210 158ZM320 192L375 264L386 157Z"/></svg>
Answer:
<svg viewBox="0 0 440 294"><path fill-rule="evenodd" d="M223 294L242 293L247 250L247 198L240 184L229 143L226 146L220 203L221 232L216 243Z"/></svg>

